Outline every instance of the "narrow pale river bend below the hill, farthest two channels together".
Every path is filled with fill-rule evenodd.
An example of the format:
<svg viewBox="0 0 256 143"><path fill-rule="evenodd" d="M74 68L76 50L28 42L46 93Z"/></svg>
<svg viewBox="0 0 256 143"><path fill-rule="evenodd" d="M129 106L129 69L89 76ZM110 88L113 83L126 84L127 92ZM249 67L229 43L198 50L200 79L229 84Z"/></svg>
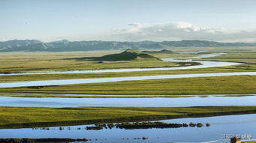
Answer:
<svg viewBox="0 0 256 143"><path fill-rule="evenodd" d="M200 55L193 58L209 58L221 54L208 54ZM174 62L187 62L187 60L180 60L178 58L163 58L163 61ZM32 74L59 74L59 73L105 73L105 72L131 72L131 71L149 71L149 70L184 70L196 69L206 67L223 67L238 65L241 63L236 62L222 62L222 61L196 61L201 65L188 66L188 67L160 67L160 68L137 68L137 69L117 69L117 70L83 70L83 71L66 71L66 72L49 72L49 73L12 73L0 74L0 76L8 75L32 75ZM63 80L44 80L44 81L29 81L29 82L10 82L0 83L0 88L16 88L26 86L47 86L47 85L72 85L72 84L85 84L85 83L101 83L101 82L122 82L134 80L147 80L147 79L177 79L177 78L193 78L193 77L206 77L206 76L241 76L241 75L256 75L256 72L236 72L236 73L197 73L197 74L177 74L177 75L161 75L161 76L132 76L132 77L115 77L115 78L100 78L100 79L63 79Z"/></svg>

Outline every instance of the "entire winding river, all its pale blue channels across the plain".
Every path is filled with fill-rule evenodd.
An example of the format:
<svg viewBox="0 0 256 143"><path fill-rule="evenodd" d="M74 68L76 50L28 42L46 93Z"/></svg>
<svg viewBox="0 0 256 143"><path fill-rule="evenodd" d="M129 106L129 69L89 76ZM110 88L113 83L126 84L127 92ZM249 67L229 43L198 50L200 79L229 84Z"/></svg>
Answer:
<svg viewBox="0 0 256 143"><path fill-rule="evenodd" d="M197 58L209 58L221 54L200 55ZM185 59L185 60L184 60ZM185 62L192 58L164 58L163 61ZM117 70L83 70L83 71L64 71L64 72L46 72L46 73L11 73L0 74L8 75L32 75L32 74L61 74L61 73L107 73L107 72L132 72L149 70L185 70L206 67L223 67L238 65L236 62L222 61L196 61L202 65L188 67L160 67L160 68L137 68L137 69L117 69ZM146 79L176 79L193 78L205 76L239 76L256 75L256 72L236 72L236 73L197 73L197 74L179 74L179 75L161 75L161 76L137 76L137 77L116 77L101 79L68 79L68 80L47 80L30 82L11 82L0 83L0 88L14 88L26 86L44 86L44 85L69 85L82 83L98 82L121 82ZM177 97L177 98L37 98L37 97L0 97L0 106L31 106L31 107L77 107L77 106L155 106L155 107L181 107L181 106L254 106L256 105L256 96L248 97ZM0 129L0 138L89 138L92 143L97 142L211 142L227 143L228 139L222 139L221 135L243 135L248 134L254 138L256 132L256 114L252 115L229 115L208 118L181 118L166 120L168 123L210 123L210 127L202 128L179 128L179 129L140 129L140 130L84 130L88 125L72 126L68 130L56 130L58 127L52 127L50 130L32 130L26 129ZM80 130L78 130L78 127ZM138 137L149 137L147 140L137 140Z"/></svg>

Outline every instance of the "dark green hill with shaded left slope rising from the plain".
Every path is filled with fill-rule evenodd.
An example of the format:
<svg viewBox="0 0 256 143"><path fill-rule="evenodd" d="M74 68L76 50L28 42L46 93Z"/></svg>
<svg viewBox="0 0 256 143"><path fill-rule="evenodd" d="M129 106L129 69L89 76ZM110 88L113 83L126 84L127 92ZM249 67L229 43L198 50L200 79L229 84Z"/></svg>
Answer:
<svg viewBox="0 0 256 143"><path fill-rule="evenodd" d="M119 54L104 55L98 61L131 61L131 60L160 60L152 55L134 49L127 49Z"/></svg>

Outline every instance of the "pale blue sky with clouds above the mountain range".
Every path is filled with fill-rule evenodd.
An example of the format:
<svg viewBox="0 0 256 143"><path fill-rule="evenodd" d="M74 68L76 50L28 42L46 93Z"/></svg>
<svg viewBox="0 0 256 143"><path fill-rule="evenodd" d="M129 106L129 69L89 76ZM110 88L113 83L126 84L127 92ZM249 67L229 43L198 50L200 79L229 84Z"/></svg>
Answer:
<svg viewBox="0 0 256 143"><path fill-rule="evenodd" d="M0 41L256 42L255 0L0 0Z"/></svg>

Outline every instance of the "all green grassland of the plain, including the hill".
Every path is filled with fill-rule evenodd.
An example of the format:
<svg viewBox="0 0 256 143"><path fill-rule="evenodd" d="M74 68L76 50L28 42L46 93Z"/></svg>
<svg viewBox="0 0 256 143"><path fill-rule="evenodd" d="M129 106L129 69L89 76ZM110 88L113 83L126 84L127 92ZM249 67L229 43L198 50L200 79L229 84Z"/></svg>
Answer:
<svg viewBox="0 0 256 143"><path fill-rule="evenodd" d="M33 52L0 53L0 73L24 73L68 70L101 70L120 68L180 67L182 63L160 58L192 57L197 54L178 52ZM121 54L117 54L121 53ZM146 53L146 54L145 54ZM119 73L72 73L0 76L0 82L22 82L53 79L93 79L125 76L156 76L191 73L228 73L256 70L256 52L228 52L206 61L235 61L243 64L188 70L159 70ZM116 60L119 58L119 60ZM200 59L201 60L201 59ZM197 64L197 63L192 63ZM68 98L155 98L155 97L244 97L256 93L256 76L215 76L182 79L104 82L77 85L53 85L23 88L0 88L2 97ZM64 94L91 94L65 96ZM95 95L102 94L102 95ZM116 95L116 96L110 96ZM135 95L135 96L128 96ZM146 96L142 96L146 95ZM148 95L148 96L147 96ZM194 107L0 107L0 129L24 127L59 127L81 124L104 124L128 121L158 121L173 118L201 118L219 115L255 114L256 106Z"/></svg>

